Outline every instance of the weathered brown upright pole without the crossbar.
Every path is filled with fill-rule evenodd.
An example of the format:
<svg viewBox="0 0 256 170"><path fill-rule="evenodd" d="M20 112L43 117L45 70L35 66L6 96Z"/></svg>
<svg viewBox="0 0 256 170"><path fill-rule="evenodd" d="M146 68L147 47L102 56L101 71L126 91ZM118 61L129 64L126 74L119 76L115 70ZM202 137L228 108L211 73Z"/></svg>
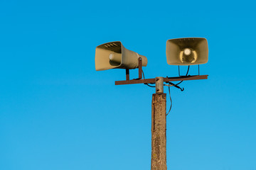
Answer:
<svg viewBox="0 0 256 170"><path fill-rule="evenodd" d="M156 77L156 94L152 96L151 121L151 170L167 170L166 94L164 94L163 77Z"/></svg>

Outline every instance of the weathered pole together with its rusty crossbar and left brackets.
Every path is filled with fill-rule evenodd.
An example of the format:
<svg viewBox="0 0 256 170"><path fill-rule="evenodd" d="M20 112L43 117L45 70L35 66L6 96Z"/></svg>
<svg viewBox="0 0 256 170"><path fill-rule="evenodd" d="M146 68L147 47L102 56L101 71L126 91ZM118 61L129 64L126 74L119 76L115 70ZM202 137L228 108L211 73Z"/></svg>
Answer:
<svg viewBox="0 0 256 170"><path fill-rule="evenodd" d="M208 75L185 77L156 77L142 79L142 69L139 70L139 79L115 81L115 85L122 84L156 84L156 94L152 96L152 125L151 125L151 170L167 170L166 166L166 94L164 82L208 79Z"/></svg>

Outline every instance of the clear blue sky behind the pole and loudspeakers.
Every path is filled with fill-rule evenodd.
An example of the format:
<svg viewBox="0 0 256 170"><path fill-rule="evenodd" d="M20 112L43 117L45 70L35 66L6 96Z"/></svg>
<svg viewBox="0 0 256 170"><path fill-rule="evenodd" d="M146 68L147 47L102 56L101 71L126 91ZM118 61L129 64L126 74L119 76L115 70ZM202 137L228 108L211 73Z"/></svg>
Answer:
<svg viewBox="0 0 256 170"><path fill-rule="evenodd" d="M150 169L154 89L114 86L124 70L96 72L95 47L120 40L171 77L166 40L203 37L208 80L171 89L168 169L255 170L255 5L1 0L0 169Z"/></svg>

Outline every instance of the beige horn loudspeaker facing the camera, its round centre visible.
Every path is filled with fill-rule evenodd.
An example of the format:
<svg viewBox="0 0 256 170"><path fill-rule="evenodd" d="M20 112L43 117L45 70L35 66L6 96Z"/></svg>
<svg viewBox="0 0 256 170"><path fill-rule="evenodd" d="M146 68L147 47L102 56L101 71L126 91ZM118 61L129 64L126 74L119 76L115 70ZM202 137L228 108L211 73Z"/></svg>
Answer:
<svg viewBox="0 0 256 170"><path fill-rule="evenodd" d="M166 42L166 58L170 65L194 65L208 62L206 38L176 38Z"/></svg>

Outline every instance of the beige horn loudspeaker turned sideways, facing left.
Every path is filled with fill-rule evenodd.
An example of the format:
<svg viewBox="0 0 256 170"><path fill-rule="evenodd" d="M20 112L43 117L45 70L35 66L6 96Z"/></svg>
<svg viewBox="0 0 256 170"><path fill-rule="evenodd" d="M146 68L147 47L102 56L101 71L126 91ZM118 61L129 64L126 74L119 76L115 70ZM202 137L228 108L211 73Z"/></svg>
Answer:
<svg viewBox="0 0 256 170"><path fill-rule="evenodd" d="M142 66L145 67L145 56L127 50L120 41L107 42L96 47L95 69L136 69L139 67L139 57L142 57Z"/></svg>

